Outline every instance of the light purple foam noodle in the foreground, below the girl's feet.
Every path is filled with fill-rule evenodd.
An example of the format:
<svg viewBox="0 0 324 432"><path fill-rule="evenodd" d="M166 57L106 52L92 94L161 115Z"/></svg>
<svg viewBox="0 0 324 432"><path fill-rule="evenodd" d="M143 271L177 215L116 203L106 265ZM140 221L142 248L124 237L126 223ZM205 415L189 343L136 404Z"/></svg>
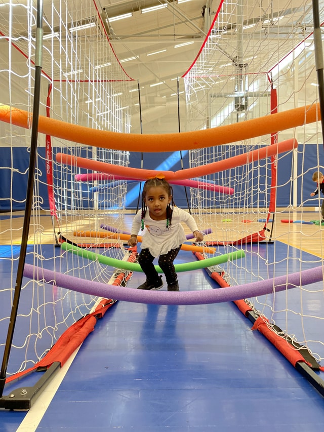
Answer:
<svg viewBox="0 0 324 432"><path fill-rule="evenodd" d="M271 294L273 291L273 284L275 286L275 291L285 291L286 289L295 288L296 286L312 284L323 279L323 269L322 266L319 266L301 272L291 273L287 276L278 276L273 279L267 279L266 281L252 282L250 284L234 287L179 292L145 291L135 288L107 285L67 276L66 274L57 273L52 270L34 267L30 264L25 264L24 276L35 280L44 279L46 283L54 284L61 288L104 298L112 298L113 300L146 304L186 305L221 303Z"/></svg>

